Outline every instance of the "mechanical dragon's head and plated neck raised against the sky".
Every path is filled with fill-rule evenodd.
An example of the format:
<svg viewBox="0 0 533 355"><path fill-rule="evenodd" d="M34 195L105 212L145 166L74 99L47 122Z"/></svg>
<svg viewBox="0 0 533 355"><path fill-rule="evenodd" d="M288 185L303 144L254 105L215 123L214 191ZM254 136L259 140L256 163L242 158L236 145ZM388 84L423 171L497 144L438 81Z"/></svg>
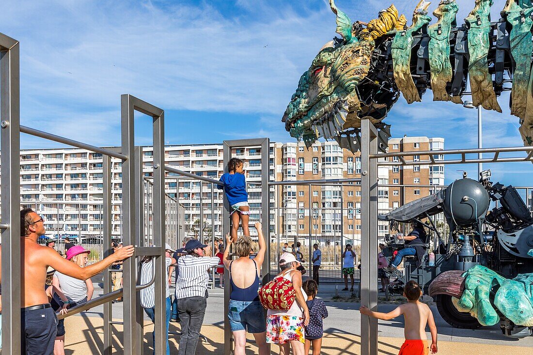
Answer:
<svg viewBox="0 0 533 355"><path fill-rule="evenodd" d="M533 145L531 0L507 0L498 22L490 22L491 0L475 0L461 27L454 0L439 3L433 25L430 3L421 0L409 27L394 5L368 23L352 23L334 0L329 4L342 38L322 47L301 76L282 118L291 136L308 147L320 137L334 139L356 152L361 119L370 119L384 151L390 125L383 119L400 93L408 103L421 101L427 88L434 101L463 103L471 94L474 106L501 112L496 97L512 90L511 114L520 119L524 144Z"/></svg>

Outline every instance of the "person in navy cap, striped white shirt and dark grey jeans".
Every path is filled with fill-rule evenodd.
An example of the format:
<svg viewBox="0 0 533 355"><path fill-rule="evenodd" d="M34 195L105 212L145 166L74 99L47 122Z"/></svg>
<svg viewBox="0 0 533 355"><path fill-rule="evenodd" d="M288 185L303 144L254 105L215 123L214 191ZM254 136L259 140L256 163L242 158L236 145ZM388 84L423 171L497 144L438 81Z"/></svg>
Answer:
<svg viewBox="0 0 533 355"><path fill-rule="evenodd" d="M178 355L193 355L207 306L208 269L219 264L211 248L191 239L185 244L187 255L177 260L176 299L180 313L181 337Z"/></svg>

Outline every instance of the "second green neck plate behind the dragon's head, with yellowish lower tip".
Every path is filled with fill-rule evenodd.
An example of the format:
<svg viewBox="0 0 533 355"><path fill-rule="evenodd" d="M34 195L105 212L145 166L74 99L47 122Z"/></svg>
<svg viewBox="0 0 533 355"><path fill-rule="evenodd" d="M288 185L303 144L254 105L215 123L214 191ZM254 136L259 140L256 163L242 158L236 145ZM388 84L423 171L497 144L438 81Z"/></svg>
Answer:
<svg viewBox="0 0 533 355"><path fill-rule="evenodd" d="M433 11L438 19L437 23L427 27L427 34L431 37L428 45L431 68L431 90L433 101L453 101L463 103L460 96L452 98L446 91L446 85L451 82L453 71L450 64L450 32L455 27L455 14L459 6L455 1L442 0ZM492 87L492 86L491 86Z"/></svg>

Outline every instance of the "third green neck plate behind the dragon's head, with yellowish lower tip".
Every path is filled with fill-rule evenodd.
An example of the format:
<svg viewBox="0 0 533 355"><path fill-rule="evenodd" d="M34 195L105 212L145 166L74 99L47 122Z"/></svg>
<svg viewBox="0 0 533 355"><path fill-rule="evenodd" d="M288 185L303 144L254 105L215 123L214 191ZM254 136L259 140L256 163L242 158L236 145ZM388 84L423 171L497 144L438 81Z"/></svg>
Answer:
<svg viewBox="0 0 533 355"><path fill-rule="evenodd" d="M481 105L486 110L502 112L496 101L489 74L487 55L489 54L490 6L492 0L476 0L474 9L465 21L469 25L468 48L470 52L469 77L474 106Z"/></svg>

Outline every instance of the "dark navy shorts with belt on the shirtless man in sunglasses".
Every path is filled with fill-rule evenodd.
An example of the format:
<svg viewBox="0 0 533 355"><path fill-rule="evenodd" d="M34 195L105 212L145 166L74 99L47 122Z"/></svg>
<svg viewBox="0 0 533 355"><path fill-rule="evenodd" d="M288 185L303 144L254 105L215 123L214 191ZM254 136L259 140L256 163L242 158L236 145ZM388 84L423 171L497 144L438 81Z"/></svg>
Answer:
<svg viewBox="0 0 533 355"><path fill-rule="evenodd" d="M21 310L21 352L27 355L54 353L54 341L58 332L58 318L52 308Z"/></svg>

